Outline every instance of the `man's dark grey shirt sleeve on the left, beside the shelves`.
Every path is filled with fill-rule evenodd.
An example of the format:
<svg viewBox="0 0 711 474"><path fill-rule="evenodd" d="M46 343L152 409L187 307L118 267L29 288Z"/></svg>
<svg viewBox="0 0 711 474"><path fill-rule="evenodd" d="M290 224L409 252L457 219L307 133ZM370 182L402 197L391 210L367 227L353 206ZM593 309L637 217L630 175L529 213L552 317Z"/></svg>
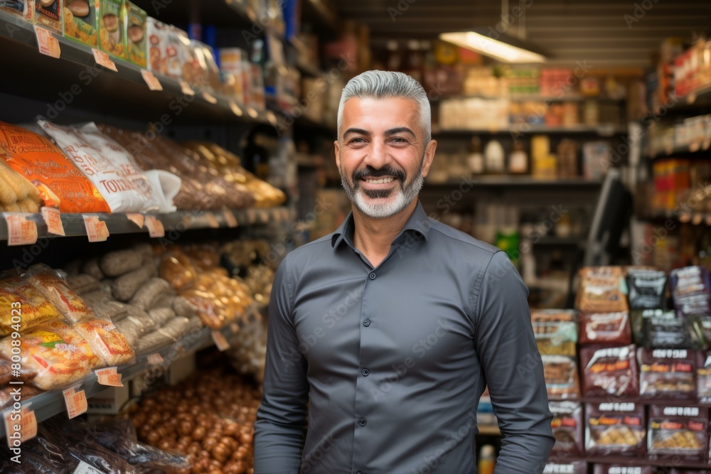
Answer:
<svg viewBox="0 0 711 474"><path fill-rule="evenodd" d="M255 474L296 474L304 449L309 383L292 323L288 257L269 299L264 396L255 421Z"/></svg>

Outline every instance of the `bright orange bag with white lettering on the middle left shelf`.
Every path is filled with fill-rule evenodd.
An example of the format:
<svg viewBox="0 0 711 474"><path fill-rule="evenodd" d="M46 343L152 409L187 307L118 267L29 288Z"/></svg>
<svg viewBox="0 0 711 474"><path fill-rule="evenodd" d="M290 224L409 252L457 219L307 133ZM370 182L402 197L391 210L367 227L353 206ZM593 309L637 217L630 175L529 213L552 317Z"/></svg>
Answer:
<svg viewBox="0 0 711 474"><path fill-rule="evenodd" d="M50 139L0 122L0 152L15 171L36 185L43 205L62 212L110 212L97 188Z"/></svg>

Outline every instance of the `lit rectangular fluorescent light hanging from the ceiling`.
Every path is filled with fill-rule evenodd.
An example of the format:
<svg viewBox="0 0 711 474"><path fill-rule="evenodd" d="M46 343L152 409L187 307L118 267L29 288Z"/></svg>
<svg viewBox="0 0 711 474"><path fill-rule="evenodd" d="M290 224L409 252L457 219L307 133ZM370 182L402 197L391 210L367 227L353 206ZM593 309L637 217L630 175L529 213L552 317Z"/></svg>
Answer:
<svg viewBox="0 0 711 474"><path fill-rule="evenodd" d="M518 38L503 34L497 34L497 36L499 39L490 38L486 33L477 33L476 31L457 31L442 33L439 35L439 39L461 46L461 48L476 51L476 53L503 63L545 63L544 55L526 48Z"/></svg>

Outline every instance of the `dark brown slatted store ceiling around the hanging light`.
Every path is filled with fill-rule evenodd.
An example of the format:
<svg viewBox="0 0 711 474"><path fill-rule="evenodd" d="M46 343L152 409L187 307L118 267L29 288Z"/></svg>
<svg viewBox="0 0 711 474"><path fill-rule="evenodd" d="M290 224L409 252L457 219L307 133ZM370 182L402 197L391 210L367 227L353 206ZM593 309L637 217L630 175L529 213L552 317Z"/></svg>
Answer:
<svg viewBox="0 0 711 474"><path fill-rule="evenodd" d="M370 27L375 45L385 38L496 28L502 11L498 1L482 0L334 2L341 17ZM587 60L594 68L646 68L663 38L688 39L711 25L709 0L510 0L508 5L509 11L515 6L525 11L526 38L550 53L550 65ZM507 33L516 33L515 23Z"/></svg>

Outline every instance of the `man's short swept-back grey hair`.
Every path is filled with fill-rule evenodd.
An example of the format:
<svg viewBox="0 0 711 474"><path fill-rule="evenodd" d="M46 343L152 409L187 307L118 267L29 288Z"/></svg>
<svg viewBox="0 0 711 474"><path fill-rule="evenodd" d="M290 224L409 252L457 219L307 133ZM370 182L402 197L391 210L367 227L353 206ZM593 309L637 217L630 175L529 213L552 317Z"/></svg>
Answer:
<svg viewBox="0 0 711 474"><path fill-rule="evenodd" d="M341 103L338 104L338 139L341 139L341 122L343 122L343 106L348 99L389 99L393 97L412 99L419 103L419 125L424 134L424 144L432 140L432 110L429 107L427 93L415 79L402 72L365 71L348 81L343 87Z"/></svg>

